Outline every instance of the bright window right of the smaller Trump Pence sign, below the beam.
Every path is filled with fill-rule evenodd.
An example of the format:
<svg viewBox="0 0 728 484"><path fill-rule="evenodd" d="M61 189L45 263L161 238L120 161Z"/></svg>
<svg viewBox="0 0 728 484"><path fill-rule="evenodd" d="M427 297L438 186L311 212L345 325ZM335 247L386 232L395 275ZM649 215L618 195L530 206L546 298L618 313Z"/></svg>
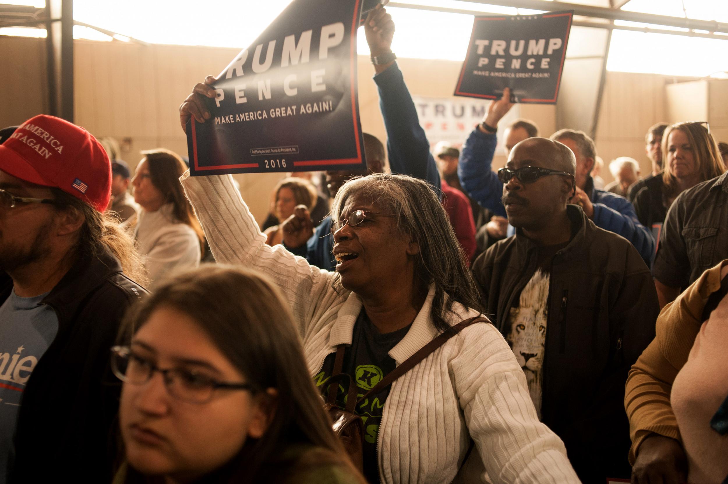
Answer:
<svg viewBox="0 0 728 484"><path fill-rule="evenodd" d="M728 40L615 30L606 68L703 77L728 71L727 51Z"/></svg>

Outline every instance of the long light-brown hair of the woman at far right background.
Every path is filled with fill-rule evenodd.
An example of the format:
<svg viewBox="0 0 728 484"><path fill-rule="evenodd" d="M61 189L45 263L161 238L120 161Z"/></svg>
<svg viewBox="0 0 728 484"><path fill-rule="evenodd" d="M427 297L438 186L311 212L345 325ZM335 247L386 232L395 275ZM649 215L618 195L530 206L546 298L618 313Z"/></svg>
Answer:
<svg viewBox="0 0 728 484"><path fill-rule="evenodd" d="M677 178L670 173L668 167L668 138L673 130L680 130L687 136L688 143L692 146L692 156L700 172L701 182L716 178L726 170L718 143L702 122L684 122L668 126L662 134L662 183L665 184L665 196L668 198L677 197L680 194Z"/></svg>

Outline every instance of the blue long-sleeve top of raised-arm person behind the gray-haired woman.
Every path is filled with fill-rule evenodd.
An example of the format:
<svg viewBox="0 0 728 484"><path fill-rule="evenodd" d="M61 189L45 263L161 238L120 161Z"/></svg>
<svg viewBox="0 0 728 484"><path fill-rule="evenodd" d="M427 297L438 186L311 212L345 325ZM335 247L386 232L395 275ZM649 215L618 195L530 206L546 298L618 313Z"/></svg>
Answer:
<svg viewBox="0 0 728 484"><path fill-rule="evenodd" d="M379 108L387 129L389 168L392 173L427 181L439 195L438 167L430 153L430 142L419 125L414 101L397 63L376 74L374 82L379 90ZM304 255L313 266L335 271L331 217L326 217L316 227L313 236L306 242L305 250L304 247L289 250L296 255Z"/></svg>

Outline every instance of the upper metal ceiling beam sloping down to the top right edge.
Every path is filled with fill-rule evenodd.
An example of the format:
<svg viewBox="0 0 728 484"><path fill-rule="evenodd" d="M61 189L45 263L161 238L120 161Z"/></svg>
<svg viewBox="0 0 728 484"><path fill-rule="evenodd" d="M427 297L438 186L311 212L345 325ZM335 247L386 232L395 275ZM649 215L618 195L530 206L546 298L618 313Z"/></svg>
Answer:
<svg viewBox="0 0 728 484"><path fill-rule="evenodd" d="M500 7L514 7L519 9L545 10L554 12L556 10L574 10L574 15L584 17L606 18L607 20L626 20L628 22L654 23L657 25L669 25L670 27L682 27L698 29L709 32L728 33L728 23L716 22L716 20L696 20L684 17L670 17L668 15L655 15L642 12L628 12L607 7L593 7L591 5L570 4L564 1L546 0L462 0L472 4L499 5Z"/></svg>

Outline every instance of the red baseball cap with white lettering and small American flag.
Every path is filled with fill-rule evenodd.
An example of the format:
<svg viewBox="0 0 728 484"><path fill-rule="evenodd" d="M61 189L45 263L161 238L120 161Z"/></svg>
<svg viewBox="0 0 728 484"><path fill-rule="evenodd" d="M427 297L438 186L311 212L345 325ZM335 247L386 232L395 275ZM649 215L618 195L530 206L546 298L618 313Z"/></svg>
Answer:
<svg viewBox="0 0 728 484"><path fill-rule="evenodd" d="M33 116L0 145L0 170L52 186L99 212L111 197L111 163L90 132L55 116Z"/></svg>

